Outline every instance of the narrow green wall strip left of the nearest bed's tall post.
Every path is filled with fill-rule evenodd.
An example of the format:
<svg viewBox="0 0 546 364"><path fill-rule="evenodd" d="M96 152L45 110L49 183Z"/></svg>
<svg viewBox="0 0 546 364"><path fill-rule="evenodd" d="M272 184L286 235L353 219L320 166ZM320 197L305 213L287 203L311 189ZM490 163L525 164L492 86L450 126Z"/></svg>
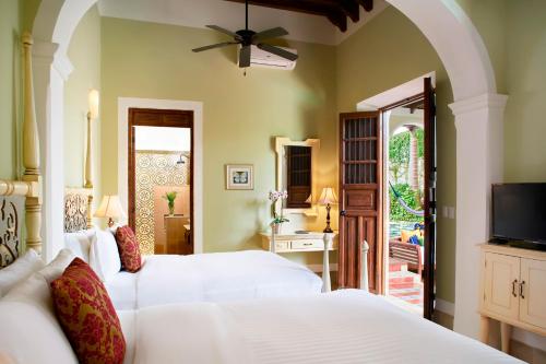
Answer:
<svg viewBox="0 0 546 364"><path fill-rule="evenodd" d="M0 1L0 178L20 174L22 132L22 1Z"/></svg>

